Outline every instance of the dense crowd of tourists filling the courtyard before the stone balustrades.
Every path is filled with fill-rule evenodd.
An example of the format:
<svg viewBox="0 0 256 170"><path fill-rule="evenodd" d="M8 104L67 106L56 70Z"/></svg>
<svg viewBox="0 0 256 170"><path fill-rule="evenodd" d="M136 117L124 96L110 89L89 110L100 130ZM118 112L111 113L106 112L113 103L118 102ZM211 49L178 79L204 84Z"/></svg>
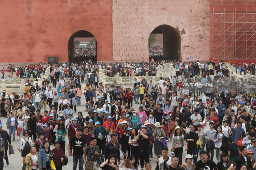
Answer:
<svg viewBox="0 0 256 170"><path fill-rule="evenodd" d="M183 64L177 62L175 69ZM1 115L7 118L8 133L0 125L0 169L3 158L9 164L7 149L17 137L22 166L29 170L62 169L65 154L73 157L73 169L85 164L86 169L150 170L153 153L157 170L255 168L255 76L238 79L216 64L211 78L210 69L208 74L205 66L194 65L188 74L181 68L156 84L136 79L130 88L116 80L111 86L102 84L97 66L52 65L51 78L43 79L41 87L37 80L27 80L22 95L3 89ZM84 114L76 114L80 106Z"/></svg>

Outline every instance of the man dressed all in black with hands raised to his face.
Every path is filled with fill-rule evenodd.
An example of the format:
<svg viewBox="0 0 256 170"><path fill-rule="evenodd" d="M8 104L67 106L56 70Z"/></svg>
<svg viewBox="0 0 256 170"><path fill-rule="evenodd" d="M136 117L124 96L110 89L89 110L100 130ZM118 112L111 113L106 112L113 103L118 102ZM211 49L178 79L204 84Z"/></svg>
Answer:
<svg viewBox="0 0 256 170"><path fill-rule="evenodd" d="M146 163L149 162L149 155L150 155L150 147L149 147L149 134L147 133L147 128L142 127L139 134L135 137L135 140L139 142L139 158L140 158L140 165L143 169L144 161Z"/></svg>

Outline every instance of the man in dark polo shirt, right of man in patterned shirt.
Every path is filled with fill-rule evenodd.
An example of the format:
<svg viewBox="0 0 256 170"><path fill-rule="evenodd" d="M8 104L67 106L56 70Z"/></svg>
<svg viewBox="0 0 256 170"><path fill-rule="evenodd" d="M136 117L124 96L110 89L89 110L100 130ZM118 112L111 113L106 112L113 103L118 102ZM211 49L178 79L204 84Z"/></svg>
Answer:
<svg viewBox="0 0 256 170"><path fill-rule="evenodd" d="M120 164L120 150L119 150L119 144L116 142L116 135L111 134L110 135L110 142L107 143L106 145L106 150L105 150L105 159L107 160L109 155L113 155L115 157L115 165Z"/></svg>

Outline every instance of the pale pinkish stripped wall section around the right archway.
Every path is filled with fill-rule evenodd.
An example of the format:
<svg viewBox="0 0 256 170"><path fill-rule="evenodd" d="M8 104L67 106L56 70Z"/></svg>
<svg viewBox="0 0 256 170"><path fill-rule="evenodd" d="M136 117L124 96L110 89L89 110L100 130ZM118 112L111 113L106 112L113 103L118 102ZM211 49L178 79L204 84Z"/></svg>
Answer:
<svg viewBox="0 0 256 170"><path fill-rule="evenodd" d="M209 59L209 0L113 0L112 17L114 61L148 60L148 37L162 24L186 32L180 34L183 60Z"/></svg>

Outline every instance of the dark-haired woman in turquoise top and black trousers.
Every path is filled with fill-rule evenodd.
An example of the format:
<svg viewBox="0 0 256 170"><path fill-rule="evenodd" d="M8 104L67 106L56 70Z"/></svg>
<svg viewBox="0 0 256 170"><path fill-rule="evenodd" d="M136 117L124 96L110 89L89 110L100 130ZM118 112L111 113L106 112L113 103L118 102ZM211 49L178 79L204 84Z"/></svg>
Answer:
<svg viewBox="0 0 256 170"><path fill-rule="evenodd" d="M60 148L63 150L65 154L65 144L66 144L66 136L68 135L68 131L63 123L58 124L58 128L56 131L56 141L59 142Z"/></svg>

